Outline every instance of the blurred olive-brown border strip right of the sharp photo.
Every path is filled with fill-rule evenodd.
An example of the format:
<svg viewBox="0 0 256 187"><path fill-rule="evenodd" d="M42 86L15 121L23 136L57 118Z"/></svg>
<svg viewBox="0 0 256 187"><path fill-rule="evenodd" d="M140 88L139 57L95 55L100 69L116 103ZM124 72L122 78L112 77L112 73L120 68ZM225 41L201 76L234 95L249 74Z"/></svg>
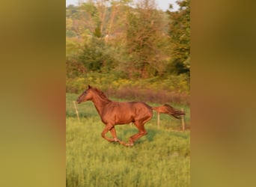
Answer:
<svg viewBox="0 0 256 187"><path fill-rule="evenodd" d="M255 186L254 6L191 7L191 184Z"/></svg>

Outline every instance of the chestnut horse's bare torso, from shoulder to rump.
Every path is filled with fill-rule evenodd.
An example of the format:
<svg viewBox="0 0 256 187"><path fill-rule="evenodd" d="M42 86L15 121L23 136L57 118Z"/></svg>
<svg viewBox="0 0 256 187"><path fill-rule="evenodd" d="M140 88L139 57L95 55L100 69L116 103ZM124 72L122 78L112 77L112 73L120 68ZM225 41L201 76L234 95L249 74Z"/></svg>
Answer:
<svg viewBox="0 0 256 187"><path fill-rule="evenodd" d="M103 123L127 124L152 117L150 106L144 102L110 102L103 111Z"/></svg>

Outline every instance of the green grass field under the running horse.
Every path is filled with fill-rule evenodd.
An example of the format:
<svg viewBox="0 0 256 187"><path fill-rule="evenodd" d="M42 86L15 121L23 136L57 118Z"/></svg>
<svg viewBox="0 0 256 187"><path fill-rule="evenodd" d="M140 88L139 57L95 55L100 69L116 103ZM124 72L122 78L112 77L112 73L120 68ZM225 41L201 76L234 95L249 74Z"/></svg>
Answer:
<svg viewBox="0 0 256 187"><path fill-rule="evenodd" d="M180 120L161 114L158 129L154 112L145 125L148 134L135 141L133 147L124 147L101 137L104 124L92 102L78 105L79 123L72 102L77 95L67 93L66 98L67 186L189 186L190 132L179 131ZM189 107L173 106L184 108L185 122L189 124ZM122 141L138 132L134 125L115 129Z"/></svg>

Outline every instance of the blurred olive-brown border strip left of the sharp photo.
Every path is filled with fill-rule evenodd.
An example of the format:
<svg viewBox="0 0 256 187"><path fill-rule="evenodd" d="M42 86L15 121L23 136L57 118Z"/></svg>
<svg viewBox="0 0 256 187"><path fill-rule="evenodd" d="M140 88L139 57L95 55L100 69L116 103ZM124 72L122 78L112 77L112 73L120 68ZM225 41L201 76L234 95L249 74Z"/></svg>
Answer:
<svg viewBox="0 0 256 187"><path fill-rule="evenodd" d="M65 186L65 1L4 1L0 186Z"/></svg>

